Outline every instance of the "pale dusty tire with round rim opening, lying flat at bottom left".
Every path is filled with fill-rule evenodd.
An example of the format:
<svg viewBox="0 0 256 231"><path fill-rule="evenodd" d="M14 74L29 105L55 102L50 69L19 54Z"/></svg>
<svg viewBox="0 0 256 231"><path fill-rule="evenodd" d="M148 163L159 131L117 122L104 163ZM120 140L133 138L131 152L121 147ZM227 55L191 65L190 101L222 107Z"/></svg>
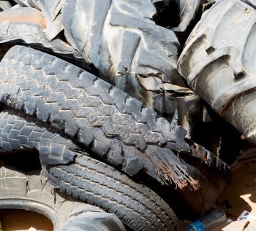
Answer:
<svg viewBox="0 0 256 231"><path fill-rule="evenodd" d="M23 209L45 215L54 231L125 231L115 214L59 193L36 171L22 173L12 167L0 168L0 208Z"/></svg>

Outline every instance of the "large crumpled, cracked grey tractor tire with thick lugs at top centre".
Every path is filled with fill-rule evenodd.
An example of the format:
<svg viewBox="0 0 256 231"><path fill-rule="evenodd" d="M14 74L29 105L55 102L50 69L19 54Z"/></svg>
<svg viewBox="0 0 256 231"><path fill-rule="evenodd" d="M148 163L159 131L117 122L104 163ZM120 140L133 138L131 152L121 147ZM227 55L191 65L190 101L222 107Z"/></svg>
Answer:
<svg viewBox="0 0 256 231"><path fill-rule="evenodd" d="M101 77L152 109L165 83L185 87L176 69L178 39L154 23L156 14L151 0L66 0L62 8L69 44Z"/></svg>

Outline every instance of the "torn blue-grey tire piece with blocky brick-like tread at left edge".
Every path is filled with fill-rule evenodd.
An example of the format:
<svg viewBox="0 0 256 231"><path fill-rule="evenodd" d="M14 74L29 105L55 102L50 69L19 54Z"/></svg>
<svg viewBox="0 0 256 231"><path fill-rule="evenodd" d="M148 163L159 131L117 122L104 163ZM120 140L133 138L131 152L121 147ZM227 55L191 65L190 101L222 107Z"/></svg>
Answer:
<svg viewBox="0 0 256 231"><path fill-rule="evenodd" d="M16 109L0 113L0 148L5 152L37 149L42 165L70 163L75 152L82 152L67 135Z"/></svg>

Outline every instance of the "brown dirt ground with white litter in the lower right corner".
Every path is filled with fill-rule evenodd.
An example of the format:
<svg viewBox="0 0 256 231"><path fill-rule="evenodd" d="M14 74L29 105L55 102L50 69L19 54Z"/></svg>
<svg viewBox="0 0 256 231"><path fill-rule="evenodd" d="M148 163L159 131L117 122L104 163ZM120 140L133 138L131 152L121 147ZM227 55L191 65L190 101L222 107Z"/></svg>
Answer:
<svg viewBox="0 0 256 231"><path fill-rule="evenodd" d="M256 148L241 152L232 165L233 180L227 185L217 205L225 208L227 218L236 221L243 211L256 216ZM256 223L246 220L222 224L211 231L256 230Z"/></svg>

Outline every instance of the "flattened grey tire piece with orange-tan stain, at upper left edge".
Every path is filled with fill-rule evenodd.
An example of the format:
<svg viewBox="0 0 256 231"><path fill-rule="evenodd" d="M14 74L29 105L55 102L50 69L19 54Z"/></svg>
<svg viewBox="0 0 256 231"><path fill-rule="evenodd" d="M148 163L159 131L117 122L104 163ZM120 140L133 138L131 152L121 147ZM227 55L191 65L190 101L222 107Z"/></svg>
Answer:
<svg viewBox="0 0 256 231"><path fill-rule="evenodd" d="M44 32L46 26L47 21L38 9L19 7L0 12L1 47L6 43L23 43L57 55L61 54L62 57L82 60L80 54L67 42L59 38L49 41Z"/></svg>

